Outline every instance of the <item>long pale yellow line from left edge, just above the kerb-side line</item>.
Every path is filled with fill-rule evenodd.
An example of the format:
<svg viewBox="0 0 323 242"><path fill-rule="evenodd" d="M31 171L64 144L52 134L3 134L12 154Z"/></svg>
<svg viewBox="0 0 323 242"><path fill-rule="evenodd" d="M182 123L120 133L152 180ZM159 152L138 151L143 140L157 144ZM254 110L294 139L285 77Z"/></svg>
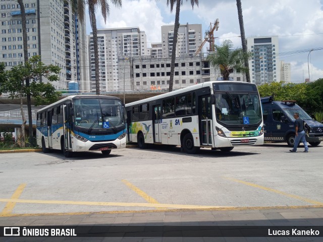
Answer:
<svg viewBox="0 0 323 242"><path fill-rule="evenodd" d="M112 202L82 202L82 201L63 201L63 200L28 200L28 199L6 199L0 198L0 202L11 203L36 203L36 204L68 204L68 205L91 205L91 206L122 206L122 207L161 207L177 209L210 209L223 208L223 206L203 206L203 205L181 205L163 203L112 203Z"/></svg>

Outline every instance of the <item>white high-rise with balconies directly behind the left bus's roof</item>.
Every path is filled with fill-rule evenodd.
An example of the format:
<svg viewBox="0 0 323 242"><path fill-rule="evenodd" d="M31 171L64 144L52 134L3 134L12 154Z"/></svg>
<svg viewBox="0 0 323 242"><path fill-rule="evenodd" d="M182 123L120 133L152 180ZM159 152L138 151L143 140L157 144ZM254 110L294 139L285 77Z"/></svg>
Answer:
<svg viewBox="0 0 323 242"><path fill-rule="evenodd" d="M90 91L95 91L95 66L93 35L87 36L90 65ZM147 54L146 34L138 27L98 29L97 42L99 50L99 77L101 91L117 91L123 85L123 71L120 60L130 62L131 57ZM121 72L119 72L121 71ZM120 80L119 80L120 79Z"/></svg>

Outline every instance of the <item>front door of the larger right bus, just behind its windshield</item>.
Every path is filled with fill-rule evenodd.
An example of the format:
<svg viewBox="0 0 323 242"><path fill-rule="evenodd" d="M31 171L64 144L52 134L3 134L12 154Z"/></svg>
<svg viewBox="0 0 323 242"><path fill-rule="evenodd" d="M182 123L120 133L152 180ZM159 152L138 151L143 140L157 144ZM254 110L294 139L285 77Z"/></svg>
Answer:
<svg viewBox="0 0 323 242"><path fill-rule="evenodd" d="M201 132L200 139L201 144L205 146L212 146L212 104L211 97L209 95L201 96L199 99L200 105L200 120L201 120Z"/></svg>

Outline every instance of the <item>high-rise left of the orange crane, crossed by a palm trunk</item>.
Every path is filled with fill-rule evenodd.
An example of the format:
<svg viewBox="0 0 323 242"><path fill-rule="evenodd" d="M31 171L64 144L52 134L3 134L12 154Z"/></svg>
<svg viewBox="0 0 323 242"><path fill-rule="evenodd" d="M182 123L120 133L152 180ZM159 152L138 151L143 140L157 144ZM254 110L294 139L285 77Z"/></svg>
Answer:
<svg viewBox="0 0 323 242"><path fill-rule="evenodd" d="M163 57L172 56L174 40L174 25L161 26L161 43L163 44ZM181 24L178 29L176 44L176 57L189 54L192 56L202 43L201 24Z"/></svg>

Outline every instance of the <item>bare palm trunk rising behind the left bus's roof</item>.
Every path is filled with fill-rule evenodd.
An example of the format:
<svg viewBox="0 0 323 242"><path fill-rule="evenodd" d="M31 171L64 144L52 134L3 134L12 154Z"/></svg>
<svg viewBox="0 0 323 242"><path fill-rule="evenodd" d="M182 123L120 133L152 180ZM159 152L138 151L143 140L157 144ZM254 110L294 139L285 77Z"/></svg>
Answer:
<svg viewBox="0 0 323 242"><path fill-rule="evenodd" d="M95 91L96 91L96 95L100 95L99 52L97 48L97 28L96 28L95 8L93 4L89 4L89 11L91 12L91 18L92 18L91 22L92 22L92 31L93 31Z"/></svg>

